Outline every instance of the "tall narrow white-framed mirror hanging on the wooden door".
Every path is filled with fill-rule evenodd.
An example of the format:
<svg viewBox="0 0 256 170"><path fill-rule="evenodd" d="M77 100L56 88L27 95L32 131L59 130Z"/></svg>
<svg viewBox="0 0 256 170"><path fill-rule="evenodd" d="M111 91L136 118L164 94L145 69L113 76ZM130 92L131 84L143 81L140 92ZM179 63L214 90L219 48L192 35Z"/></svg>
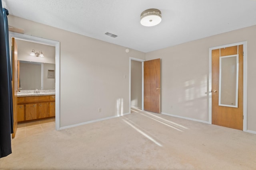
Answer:
<svg viewBox="0 0 256 170"><path fill-rule="evenodd" d="M238 57L220 57L219 106L238 107Z"/></svg>

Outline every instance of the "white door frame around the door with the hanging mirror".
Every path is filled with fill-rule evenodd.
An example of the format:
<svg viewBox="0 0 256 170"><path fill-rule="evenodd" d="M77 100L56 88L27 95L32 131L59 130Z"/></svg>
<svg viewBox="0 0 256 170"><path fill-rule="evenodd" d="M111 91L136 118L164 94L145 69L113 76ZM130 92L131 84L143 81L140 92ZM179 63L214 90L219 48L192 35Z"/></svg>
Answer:
<svg viewBox="0 0 256 170"><path fill-rule="evenodd" d="M233 44L227 44L227 45L221 45L218 47L211 47L209 48L209 88L208 88L208 99L209 99L209 123L212 124L212 94L210 91L212 90L212 50L214 49L221 49L225 47L232 47L236 45L243 45L243 51L244 51L244 61L243 61L243 115L244 115L244 121L243 121L243 131L247 131L247 41L242 41L239 43L233 43Z"/></svg>

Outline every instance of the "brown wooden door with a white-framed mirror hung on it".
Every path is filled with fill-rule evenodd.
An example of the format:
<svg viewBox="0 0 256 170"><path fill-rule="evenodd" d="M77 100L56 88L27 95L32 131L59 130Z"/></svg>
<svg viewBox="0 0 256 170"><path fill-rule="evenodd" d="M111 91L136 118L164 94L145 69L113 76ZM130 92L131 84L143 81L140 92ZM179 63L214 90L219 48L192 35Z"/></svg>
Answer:
<svg viewBox="0 0 256 170"><path fill-rule="evenodd" d="M220 56L239 54L238 107L219 106ZM243 45L212 50L212 124L243 129Z"/></svg>

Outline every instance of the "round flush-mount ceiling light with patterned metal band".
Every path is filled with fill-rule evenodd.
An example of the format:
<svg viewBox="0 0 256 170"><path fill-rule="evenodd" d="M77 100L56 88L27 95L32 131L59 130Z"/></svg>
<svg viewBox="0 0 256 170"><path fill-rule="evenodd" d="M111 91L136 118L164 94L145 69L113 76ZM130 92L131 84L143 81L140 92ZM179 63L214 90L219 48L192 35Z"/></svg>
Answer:
<svg viewBox="0 0 256 170"><path fill-rule="evenodd" d="M162 21L161 11L158 9L148 9L140 14L140 23L146 27L157 25Z"/></svg>

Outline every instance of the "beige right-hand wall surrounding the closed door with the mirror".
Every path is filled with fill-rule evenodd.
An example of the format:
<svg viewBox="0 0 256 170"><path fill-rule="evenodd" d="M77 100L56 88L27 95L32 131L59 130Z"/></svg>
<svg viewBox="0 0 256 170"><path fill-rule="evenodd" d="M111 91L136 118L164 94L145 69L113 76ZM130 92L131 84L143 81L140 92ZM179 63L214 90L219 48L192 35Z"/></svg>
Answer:
<svg viewBox="0 0 256 170"><path fill-rule="evenodd" d="M162 112L208 121L209 48L247 41L248 130L256 131L256 25L146 53L162 59Z"/></svg>

